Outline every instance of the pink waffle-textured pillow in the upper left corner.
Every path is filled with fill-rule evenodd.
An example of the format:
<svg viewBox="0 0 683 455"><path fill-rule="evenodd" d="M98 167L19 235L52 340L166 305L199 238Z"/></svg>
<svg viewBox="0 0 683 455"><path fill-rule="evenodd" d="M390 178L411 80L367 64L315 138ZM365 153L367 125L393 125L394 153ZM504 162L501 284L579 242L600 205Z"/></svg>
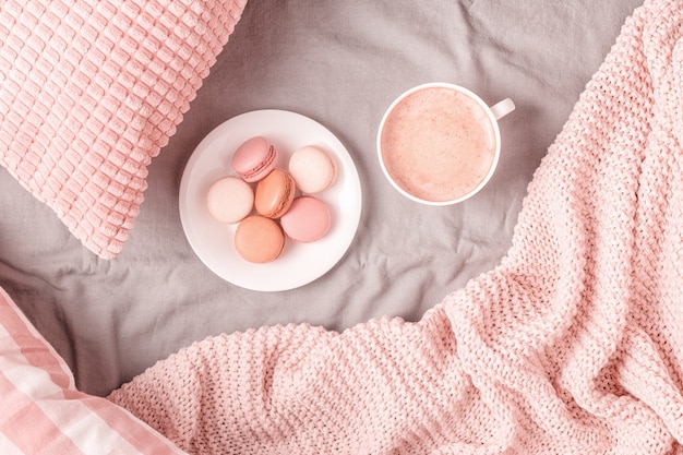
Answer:
<svg viewBox="0 0 683 455"><path fill-rule="evenodd" d="M116 256L245 2L0 1L0 165Z"/></svg>

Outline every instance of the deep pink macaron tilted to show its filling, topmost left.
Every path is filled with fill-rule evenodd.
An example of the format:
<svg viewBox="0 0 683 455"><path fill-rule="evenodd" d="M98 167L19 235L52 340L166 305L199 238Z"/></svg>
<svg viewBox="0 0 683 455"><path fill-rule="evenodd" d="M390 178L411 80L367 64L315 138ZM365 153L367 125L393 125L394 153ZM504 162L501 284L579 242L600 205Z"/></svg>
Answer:
<svg viewBox="0 0 683 455"><path fill-rule="evenodd" d="M232 155L232 168L247 182L267 176L277 165L277 148L264 136L243 142Z"/></svg>

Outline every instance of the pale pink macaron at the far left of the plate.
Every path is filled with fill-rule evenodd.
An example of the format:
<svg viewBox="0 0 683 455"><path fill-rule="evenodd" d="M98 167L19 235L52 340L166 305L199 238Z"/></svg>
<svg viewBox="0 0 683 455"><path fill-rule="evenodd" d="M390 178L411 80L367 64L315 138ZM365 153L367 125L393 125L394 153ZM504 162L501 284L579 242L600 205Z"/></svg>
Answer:
<svg viewBox="0 0 683 455"><path fill-rule="evenodd" d="M224 177L208 188L206 207L220 223L238 223L254 207L254 190L242 179Z"/></svg>

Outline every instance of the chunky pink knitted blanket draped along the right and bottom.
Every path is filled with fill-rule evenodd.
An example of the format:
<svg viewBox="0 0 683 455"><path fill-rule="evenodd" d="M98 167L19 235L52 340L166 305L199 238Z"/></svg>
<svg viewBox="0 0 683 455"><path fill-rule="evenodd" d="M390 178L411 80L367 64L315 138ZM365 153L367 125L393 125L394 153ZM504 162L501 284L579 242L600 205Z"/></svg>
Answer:
<svg viewBox="0 0 683 455"><path fill-rule="evenodd" d="M683 454L683 2L624 25L501 264L421 321L196 343L113 392L190 453Z"/></svg>

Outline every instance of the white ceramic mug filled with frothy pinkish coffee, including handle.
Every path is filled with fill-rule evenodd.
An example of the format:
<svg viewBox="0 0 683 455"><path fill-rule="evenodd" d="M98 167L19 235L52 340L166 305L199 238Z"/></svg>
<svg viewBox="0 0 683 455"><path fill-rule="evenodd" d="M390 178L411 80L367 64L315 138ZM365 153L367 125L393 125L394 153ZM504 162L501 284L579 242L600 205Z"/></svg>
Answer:
<svg viewBox="0 0 683 455"><path fill-rule="evenodd" d="M448 205L479 192L501 154L498 120L510 98L489 107L459 85L428 83L403 93L378 132L380 165L398 192L429 205Z"/></svg>

